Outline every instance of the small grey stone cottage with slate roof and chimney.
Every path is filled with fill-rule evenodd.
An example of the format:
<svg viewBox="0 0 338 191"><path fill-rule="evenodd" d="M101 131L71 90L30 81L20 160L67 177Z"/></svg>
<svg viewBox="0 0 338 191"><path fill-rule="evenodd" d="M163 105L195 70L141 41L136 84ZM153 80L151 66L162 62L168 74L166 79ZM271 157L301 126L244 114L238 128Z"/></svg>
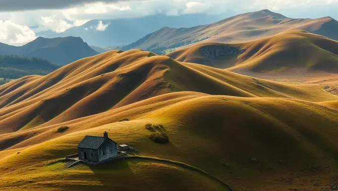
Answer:
<svg viewBox="0 0 338 191"><path fill-rule="evenodd" d="M103 137L86 135L78 145L79 159L91 163L117 157L117 143L104 132Z"/></svg>

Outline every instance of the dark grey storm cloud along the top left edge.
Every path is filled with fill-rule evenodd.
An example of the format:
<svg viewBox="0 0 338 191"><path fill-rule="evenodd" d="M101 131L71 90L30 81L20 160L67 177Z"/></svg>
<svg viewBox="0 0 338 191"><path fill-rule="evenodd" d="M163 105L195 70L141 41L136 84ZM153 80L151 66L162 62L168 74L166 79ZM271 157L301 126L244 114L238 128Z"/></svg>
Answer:
<svg viewBox="0 0 338 191"><path fill-rule="evenodd" d="M119 2L128 0L0 0L0 11L61 9L88 2Z"/></svg>

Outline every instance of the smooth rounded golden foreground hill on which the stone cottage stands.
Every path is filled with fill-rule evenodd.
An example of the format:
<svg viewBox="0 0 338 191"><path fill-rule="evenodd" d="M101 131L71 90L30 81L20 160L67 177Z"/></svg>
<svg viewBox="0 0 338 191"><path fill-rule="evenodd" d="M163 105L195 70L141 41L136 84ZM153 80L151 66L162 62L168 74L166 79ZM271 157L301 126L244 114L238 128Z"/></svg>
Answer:
<svg viewBox="0 0 338 191"><path fill-rule="evenodd" d="M108 122L110 118L122 117L132 120ZM97 120L104 125L91 126ZM112 190L155 190L141 177L167 175L163 184L170 187L176 173L179 177L183 173L182 178L194 177L189 179L191 183L200 182L196 190L216 186L207 177L152 161L126 161L98 168L81 165L69 170L63 168L65 164L62 162L43 165L76 152L77 144L85 135L101 135L106 130L115 141L135 147L138 155L184 162L215 175L235 190L248 187L257 190L323 190L332 184L338 168L337 122L336 109L307 101L170 93L65 122L62 125L71 128L62 134L55 131L57 126L35 129L37 135L30 138L35 139L34 145L28 139L12 147L17 148L15 150L0 152L7 154L0 159L0 172L4 175L0 176L0 188L11 191L27 187L36 190L66 190L71 187L72 190L89 191L108 189L106 186ZM147 137L151 132L144 127L146 123L163 124L170 143L152 142ZM56 138L52 139L53 136ZM259 162L252 163L253 157ZM16 176L17 173L22 176ZM321 179L317 186L310 184L318 176ZM123 184L109 184L120 180L118 177L128 179L129 184L122 180ZM292 179L294 183L283 183L283 179ZM180 181L173 186L185 188Z"/></svg>

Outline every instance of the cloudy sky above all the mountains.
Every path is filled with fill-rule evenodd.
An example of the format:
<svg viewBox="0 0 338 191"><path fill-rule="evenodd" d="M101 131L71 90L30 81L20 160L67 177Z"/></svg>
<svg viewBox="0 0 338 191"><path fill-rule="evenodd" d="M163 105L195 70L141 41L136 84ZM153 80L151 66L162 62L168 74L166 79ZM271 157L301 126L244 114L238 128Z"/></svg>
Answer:
<svg viewBox="0 0 338 191"><path fill-rule="evenodd" d="M146 15L193 13L233 16L269 9L292 18L331 16L338 19L338 0L0 0L0 42L22 45L34 40L37 32L63 32L97 19L97 31L104 31L102 20Z"/></svg>

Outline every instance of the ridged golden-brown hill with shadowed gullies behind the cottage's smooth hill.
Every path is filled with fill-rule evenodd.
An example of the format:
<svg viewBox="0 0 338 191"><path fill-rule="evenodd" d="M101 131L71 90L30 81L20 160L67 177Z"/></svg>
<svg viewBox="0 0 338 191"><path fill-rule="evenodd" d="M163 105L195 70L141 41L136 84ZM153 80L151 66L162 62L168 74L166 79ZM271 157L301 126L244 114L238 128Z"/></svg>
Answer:
<svg viewBox="0 0 338 191"><path fill-rule="evenodd" d="M94 115L169 92L336 100L320 85L286 85L180 63L167 56L110 51L1 87L0 134Z"/></svg>

